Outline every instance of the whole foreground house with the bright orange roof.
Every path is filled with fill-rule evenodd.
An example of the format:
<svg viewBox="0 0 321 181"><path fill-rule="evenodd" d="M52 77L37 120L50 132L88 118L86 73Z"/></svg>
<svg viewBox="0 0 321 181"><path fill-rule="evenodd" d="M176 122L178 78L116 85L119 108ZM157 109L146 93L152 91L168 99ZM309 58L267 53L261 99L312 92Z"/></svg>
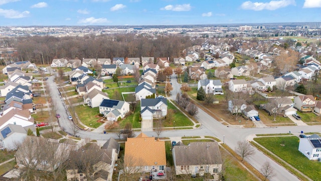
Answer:
<svg viewBox="0 0 321 181"><path fill-rule="evenodd" d="M127 138L125 148L124 164L128 171L150 172L153 179L163 173L160 178L166 179L165 141L140 133L135 138Z"/></svg>

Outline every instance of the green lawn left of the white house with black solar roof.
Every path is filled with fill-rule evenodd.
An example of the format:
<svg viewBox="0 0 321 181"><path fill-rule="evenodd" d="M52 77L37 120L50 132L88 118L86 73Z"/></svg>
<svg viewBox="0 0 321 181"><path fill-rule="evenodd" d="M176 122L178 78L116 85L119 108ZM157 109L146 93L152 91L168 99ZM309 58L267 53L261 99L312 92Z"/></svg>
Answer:
<svg viewBox="0 0 321 181"><path fill-rule="evenodd" d="M76 113L80 121L88 127L98 128L102 123L98 123L99 118L96 118L99 114L99 107L90 108L89 106L75 106Z"/></svg>

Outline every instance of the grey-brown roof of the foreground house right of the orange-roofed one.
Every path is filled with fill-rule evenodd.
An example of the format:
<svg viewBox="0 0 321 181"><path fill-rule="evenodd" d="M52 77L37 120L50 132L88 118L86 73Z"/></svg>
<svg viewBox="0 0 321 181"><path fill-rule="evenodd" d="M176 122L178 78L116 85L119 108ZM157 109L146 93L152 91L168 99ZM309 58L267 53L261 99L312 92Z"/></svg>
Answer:
<svg viewBox="0 0 321 181"><path fill-rule="evenodd" d="M174 146L176 165L222 164L217 142L194 142L187 146Z"/></svg>

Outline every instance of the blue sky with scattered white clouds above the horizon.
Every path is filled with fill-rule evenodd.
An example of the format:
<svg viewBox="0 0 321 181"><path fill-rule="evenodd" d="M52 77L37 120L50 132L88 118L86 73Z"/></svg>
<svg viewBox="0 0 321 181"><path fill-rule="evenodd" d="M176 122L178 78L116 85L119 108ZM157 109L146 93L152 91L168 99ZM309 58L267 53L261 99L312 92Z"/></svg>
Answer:
<svg viewBox="0 0 321 181"><path fill-rule="evenodd" d="M320 21L321 0L0 0L0 26Z"/></svg>

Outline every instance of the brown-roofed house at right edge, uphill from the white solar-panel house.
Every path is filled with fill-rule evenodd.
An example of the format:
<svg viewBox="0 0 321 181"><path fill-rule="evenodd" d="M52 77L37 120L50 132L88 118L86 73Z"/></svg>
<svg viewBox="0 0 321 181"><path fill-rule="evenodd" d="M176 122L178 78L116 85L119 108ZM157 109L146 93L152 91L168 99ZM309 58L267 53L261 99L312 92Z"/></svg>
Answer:
<svg viewBox="0 0 321 181"><path fill-rule="evenodd" d="M294 97L294 108L301 112L311 112L316 105L316 101L312 95Z"/></svg>

